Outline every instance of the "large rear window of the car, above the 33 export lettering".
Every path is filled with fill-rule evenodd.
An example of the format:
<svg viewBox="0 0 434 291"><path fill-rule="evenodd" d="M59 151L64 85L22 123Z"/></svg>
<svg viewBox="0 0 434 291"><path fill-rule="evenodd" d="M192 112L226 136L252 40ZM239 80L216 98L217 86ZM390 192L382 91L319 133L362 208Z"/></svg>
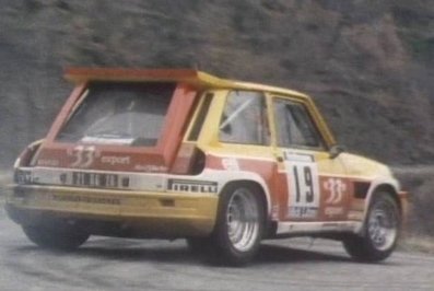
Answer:
<svg viewBox="0 0 434 291"><path fill-rule="evenodd" d="M60 130L60 142L153 147L175 83L91 83Z"/></svg>

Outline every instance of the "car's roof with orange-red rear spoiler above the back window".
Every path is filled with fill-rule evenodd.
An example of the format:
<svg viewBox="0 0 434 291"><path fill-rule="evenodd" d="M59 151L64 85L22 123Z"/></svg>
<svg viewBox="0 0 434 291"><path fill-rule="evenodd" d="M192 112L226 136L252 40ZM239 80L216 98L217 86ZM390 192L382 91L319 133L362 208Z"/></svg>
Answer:
<svg viewBox="0 0 434 291"><path fill-rule="evenodd" d="M192 69L124 69L124 68L67 68L64 78L74 83L89 81L127 81L127 82L183 82L201 89L233 89L266 91L275 94L308 98L297 91L222 79L207 72Z"/></svg>

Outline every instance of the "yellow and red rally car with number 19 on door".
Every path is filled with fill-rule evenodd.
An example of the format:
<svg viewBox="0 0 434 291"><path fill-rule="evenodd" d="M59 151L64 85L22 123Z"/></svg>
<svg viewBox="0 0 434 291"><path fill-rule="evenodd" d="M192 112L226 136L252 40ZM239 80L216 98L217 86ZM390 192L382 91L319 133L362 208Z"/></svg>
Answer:
<svg viewBox="0 0 434 291"><path fill-rule="evenodd" d="M344 152L315 104L196 70L66 70L75 89L14 165L9 216L42 247L90 235L186 237L221 263L261 240L340 240L357 260L394 251L406 193Z"/></svg>

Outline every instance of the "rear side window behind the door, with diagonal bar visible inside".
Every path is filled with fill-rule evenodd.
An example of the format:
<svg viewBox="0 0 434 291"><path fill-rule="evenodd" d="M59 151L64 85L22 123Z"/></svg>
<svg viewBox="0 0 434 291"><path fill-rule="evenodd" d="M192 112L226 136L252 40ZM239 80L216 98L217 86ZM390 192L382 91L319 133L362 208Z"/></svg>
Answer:
<svg viewBox="0 0 434 291"><path fill-rule="evenodd" d="M232 91L220 121L220 141L269 144L266 100L260 92Z"/></svg>

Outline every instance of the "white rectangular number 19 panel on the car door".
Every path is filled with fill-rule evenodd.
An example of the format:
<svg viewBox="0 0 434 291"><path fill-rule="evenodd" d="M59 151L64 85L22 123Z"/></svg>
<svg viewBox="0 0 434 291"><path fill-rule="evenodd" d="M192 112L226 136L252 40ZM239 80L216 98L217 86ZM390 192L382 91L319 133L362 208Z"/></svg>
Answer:
<svg viewBox="0 0 434 291"><path fill-rule="evenodd" d="M319 208L318 168L309 154L284 152L289 218L316 218Z"/></svg>

